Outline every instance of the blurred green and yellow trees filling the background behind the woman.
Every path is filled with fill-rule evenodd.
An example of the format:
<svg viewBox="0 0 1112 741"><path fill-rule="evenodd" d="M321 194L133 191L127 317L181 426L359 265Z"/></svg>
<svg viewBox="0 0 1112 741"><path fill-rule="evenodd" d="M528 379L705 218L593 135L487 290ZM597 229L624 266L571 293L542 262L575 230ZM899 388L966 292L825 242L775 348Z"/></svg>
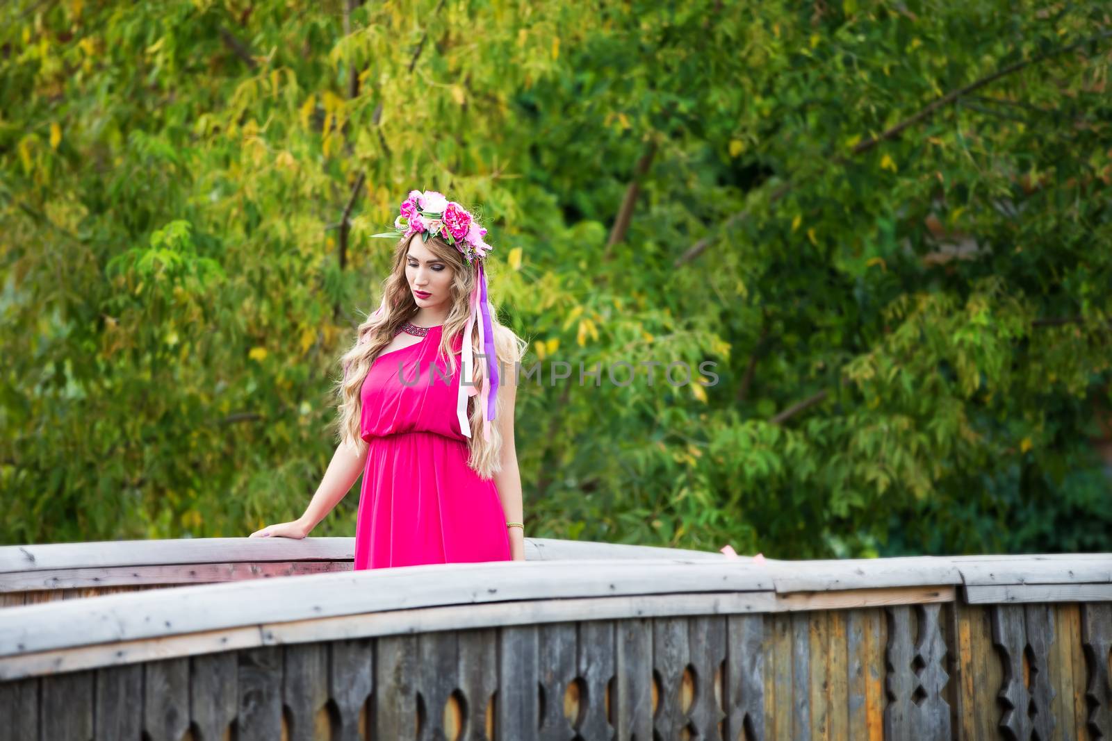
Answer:
<svg viewBox="0 0 1112 741"><path fill-rule="evenodd" d="M299 515L418 188L481 207L545 370L527 534L1112 550L1105 3L2 13L3 542Z"/></svg>

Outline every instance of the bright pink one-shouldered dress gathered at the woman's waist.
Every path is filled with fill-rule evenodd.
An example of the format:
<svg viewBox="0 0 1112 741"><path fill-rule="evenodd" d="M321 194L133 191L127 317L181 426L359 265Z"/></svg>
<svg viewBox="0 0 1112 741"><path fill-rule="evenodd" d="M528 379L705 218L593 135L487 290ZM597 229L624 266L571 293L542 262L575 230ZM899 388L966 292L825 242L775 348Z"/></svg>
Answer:
<svg viewBox="0 0 1112 741"><path fill-rule="evenodd" d="M437 358L441 329L378 356L364 380L360 431L368 451L356 570L513 558L494 480L467 465L467 438L456 418L459 370L445 380L449 366ZM457 367L460 344L457 337Z"/></svg>

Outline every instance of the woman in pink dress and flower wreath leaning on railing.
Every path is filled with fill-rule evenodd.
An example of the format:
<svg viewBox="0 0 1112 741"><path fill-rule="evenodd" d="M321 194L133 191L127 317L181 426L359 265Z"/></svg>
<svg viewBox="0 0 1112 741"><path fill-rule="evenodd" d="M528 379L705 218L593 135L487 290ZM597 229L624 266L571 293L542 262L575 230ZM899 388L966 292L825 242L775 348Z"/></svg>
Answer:
<svg viewBox="0 0 1112 741"><path fill-rule="evenodd" d="M525 559L514 448L525 342L487 298L486 229L410 191L378 310L342 357L339 445L305 513L251 538L305 538L363 472L355 569Z"/></svg>

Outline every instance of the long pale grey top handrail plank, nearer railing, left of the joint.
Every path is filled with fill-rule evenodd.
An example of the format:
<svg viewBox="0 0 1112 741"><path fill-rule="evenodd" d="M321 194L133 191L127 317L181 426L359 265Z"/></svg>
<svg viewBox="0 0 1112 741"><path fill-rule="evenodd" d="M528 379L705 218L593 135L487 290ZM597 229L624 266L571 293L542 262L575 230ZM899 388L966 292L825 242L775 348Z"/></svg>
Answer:
<svg viewBox="0 0 1112 741"><path fill-rule="evenodd" d="M634 594L668 594L682 604L675 595L771 587L763 570L719 561L494 561L277 577L8 608L0 610L0 655L420 607ZM82 630L70 629L76 621Z"/></svg>

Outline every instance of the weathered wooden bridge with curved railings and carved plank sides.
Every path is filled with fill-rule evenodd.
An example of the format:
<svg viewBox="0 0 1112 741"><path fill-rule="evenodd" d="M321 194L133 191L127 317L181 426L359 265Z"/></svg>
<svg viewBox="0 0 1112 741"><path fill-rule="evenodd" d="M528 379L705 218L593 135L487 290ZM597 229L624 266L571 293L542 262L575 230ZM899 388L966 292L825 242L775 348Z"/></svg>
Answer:
<svg viewBox="0 0 1112 741"><path fill-rule="evenodd" d="M754 562L527 539L0 548L0 737L1112 738L1112 554Z"/></svg>

